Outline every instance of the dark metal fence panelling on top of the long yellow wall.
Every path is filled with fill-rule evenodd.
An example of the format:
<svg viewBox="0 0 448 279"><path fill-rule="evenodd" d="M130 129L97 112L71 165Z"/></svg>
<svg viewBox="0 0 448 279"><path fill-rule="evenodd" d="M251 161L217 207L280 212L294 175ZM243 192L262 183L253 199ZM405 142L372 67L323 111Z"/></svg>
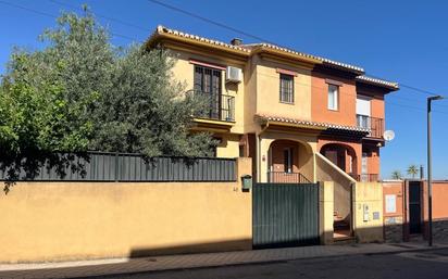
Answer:
<svg viewBox="0 0 448 279"><path fill-rule="evenodd" d="M36 181L236 181L236 160L214 157L159 156L146 158L141 154L90 152L87 158L75 156L64 166L64 176L55 167L40 166L37 176L27 178L21 172L18 180ZM0 180L7 179L0 169Z"/></svg>

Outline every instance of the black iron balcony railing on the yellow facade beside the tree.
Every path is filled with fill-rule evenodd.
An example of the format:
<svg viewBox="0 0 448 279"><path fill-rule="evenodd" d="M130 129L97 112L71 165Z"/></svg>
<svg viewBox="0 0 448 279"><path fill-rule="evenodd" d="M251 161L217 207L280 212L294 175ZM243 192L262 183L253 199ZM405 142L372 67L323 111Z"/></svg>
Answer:
<svg viewBox="0 0 448 279"><path fill-rule="evenodd" d="M201 118L235 122L235 97L228 94L215 94L198 90L190 90L195 96L206 100L206 109L195 116Z"/></svg>

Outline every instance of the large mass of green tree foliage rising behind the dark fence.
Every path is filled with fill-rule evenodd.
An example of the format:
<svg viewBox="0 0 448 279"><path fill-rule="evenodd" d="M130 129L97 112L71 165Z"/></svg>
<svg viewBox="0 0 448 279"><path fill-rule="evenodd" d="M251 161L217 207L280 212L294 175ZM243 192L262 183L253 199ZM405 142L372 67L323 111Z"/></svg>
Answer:
<svg viewBox="0 0 448 279"><path fill-rule="evenodd" d="M210 135L189 135L204 101L182 93L170 53L113 47L87 9L63 13L40 39L42 50L13 52L1 80L0 170L9 180L21 170L33 178L42 164L62 170L73 156L60 154L87 150L210 155Z"/></svg>

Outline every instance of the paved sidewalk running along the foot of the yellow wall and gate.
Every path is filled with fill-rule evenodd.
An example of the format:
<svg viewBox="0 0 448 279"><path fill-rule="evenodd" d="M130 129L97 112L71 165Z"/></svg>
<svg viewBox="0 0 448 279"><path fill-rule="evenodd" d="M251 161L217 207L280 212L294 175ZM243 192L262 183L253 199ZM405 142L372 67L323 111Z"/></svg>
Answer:
<svg viewBox="0 0 448 279"><path fill-rule="evenodd" d="M14 265L0 264L0 278L86 278L103 275L260 264L357 254L401 253L434 249L448 249L448 244L437 243L433 248L428 248L427 244L423 242L407 242L400 244L321 245L84 262Z"/></svg>

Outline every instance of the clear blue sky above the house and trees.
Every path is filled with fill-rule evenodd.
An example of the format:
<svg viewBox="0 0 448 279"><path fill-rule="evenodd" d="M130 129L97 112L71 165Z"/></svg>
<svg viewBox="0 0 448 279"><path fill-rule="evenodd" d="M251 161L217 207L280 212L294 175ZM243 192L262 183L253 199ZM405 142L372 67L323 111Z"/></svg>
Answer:
<svg viewBox="0 0 448 279"><path fill-rule="evenodd" d="M112 33L144 41L162 24L224 41L239 34L151 3L148 0L59 0L70 5L87 3L99 15L142 28L98 18ZM10 2L47 15L21 10ZM448 96L448 36L446 1L181 1L169 4L191 11L278 45L362 66L368 74ZM37 36L54 25L60 11L54 1L0 1L0 73L14 46L41 48ZM53 15L54 17L48 16ZM129 39L113 37L123 46ZM426 96L401 88L386 98L386 128L396 139L382 149L382 175L406 174L410 164L426 166ZM434 177L448 179L448 100L434 104Z"/></svg>

